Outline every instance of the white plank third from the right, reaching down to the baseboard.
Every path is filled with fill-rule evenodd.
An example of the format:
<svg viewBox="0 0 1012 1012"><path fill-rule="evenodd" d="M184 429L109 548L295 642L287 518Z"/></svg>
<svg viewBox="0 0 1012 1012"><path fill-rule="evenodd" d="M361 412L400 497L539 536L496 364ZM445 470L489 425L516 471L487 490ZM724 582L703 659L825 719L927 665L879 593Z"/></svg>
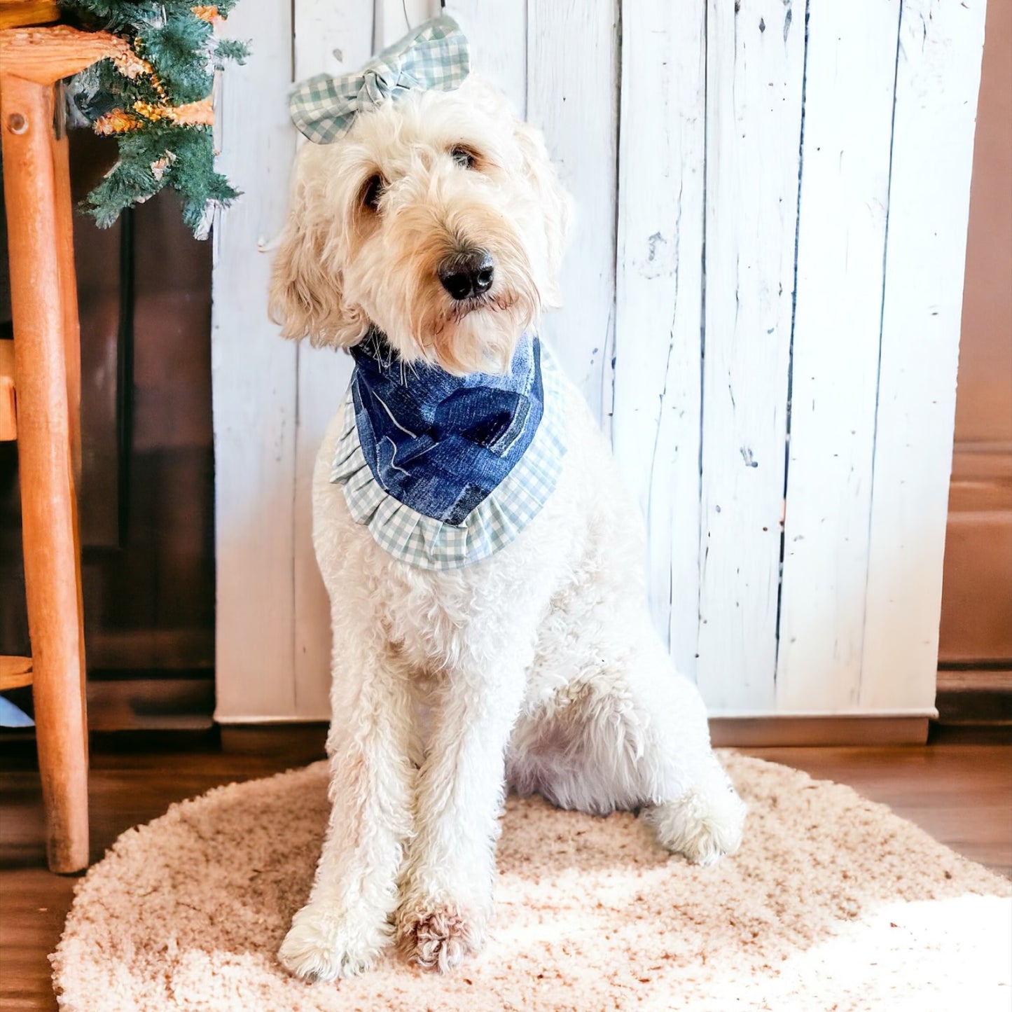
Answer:
<svg viewBox="0 0 1012 1012"><path fill-rule="evenodd" d="M708 2L696 680L716 713L774 705L804 22Z"/></svg>

